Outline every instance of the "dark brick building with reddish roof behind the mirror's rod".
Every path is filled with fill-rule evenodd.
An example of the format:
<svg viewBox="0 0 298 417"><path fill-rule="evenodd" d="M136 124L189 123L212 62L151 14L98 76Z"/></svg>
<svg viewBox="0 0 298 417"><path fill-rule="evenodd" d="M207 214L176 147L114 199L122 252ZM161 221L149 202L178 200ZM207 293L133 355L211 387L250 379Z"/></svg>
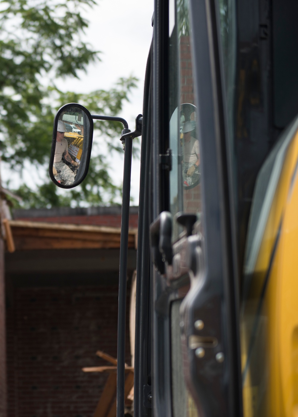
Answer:
<svg viewBox="0 0 298 417"><path fill-rule="evenodd" d="M131 227L137 225L137 213L131 208ZM121 208L22 210L15 211L14 220L119 228ZM21 238L16 237L16 247L22 249L5 254L8 407L7 414L0 415L91 417L108 374L85 373L82 368L108 364L96 356L98 349L117 354L119 248L26 250L18 243ZM129 364L129 298L135 267L136 250L131 247ZM5 388L0 384L0 395Z"/></svg>

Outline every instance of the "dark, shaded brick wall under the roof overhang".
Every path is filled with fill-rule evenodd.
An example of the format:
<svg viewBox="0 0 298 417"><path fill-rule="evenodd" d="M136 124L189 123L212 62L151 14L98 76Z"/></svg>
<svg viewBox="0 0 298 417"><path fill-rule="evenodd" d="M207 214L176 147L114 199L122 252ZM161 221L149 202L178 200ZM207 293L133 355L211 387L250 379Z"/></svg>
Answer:
<svg viewBox="0 0 298 417"><path fill-rule="evenodd" d="M14 289L7 308L8 416L91 417L107 374L81 368L107 364L98 349L116 357L117 310L118 286Z"/></svg>

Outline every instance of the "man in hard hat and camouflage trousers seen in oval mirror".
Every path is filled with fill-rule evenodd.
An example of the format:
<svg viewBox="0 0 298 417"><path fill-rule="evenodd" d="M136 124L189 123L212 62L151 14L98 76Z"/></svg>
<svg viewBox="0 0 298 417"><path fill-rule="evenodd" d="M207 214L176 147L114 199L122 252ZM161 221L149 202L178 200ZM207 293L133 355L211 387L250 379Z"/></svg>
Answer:
<svg viewBox="0 0 298 417"><path fill-rule="evenodd" d="M56 149L53 163L53 174L56 181L64 185L72 185L74 183L75 173L71 168L62 161L62 157L71 163L74 167L78 167L79 164L73 161L68 153L68 143L64 139L64 133L66 132L65 124L59 120L57 126L57 137L56 137Z"/></svg>

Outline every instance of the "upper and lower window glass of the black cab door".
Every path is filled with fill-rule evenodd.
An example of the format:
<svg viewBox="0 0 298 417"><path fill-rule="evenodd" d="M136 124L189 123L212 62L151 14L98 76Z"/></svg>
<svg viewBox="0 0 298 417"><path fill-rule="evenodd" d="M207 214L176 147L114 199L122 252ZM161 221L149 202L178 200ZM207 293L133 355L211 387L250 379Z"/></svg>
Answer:
<svg viewBox="0 0 298 417"><path fill-rule="evenodd" d="M187 0L169 0L169 29L170 210L174 216L180 211L200 211L200 138L196 128ZM173 241L177 241L181 231L174 221ZM172 410L174 417L198 417L183 376L181 301L171 304Z"/></svg>

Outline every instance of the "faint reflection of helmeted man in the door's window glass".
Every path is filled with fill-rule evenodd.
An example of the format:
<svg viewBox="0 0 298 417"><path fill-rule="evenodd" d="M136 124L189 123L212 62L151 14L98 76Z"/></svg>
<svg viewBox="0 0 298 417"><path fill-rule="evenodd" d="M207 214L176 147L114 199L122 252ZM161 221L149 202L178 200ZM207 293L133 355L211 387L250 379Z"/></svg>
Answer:
<svg viewBox="0 0 298 417"><path fill-rule="evenodd" d="M184 140L184 171L187 176L192 177L194 171L200 165L200 146L199 141L194 138L194 124L190 121L185 122L182 133Z"/></svg>

